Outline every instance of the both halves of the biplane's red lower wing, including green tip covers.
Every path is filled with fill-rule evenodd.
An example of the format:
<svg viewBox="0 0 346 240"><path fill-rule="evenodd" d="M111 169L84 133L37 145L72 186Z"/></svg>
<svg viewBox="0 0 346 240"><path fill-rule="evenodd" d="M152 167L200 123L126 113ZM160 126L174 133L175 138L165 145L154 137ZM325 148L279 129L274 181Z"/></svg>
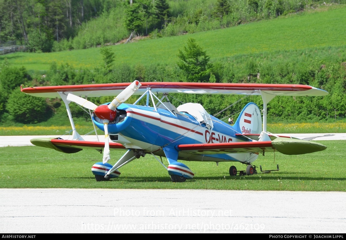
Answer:
<svg viewBox="0 0 346 240"><path fill-rule="evenodd" d="M104 143L96 141L64 140L61 138L34 138L30 142L39 147L52 148L63 153L77 153L83 149L103 150ZM126 148L118 143L110 142L110 150ZM278 137L272 141L225 142L216 144L180 144L177 150L185 153L230 154L230 153L265 153L278 151L286 155L300 155L325 150L327 147L314 141Z"/></svg>

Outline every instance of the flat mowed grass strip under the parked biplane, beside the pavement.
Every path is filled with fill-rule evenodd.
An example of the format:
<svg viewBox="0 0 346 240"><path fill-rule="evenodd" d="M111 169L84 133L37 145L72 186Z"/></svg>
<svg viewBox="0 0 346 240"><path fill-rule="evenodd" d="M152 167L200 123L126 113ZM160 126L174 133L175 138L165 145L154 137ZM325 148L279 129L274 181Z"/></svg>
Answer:
<svg viewBox="0 0 346 240"><path fill-rule="evenodd" d="M40 147L5 147L0 149L0 188L138 188L138 189L219 189L219 190L282 190L282 191L346 191L344 148L346 141L318 141L327 146L321 152L306 155L267 153L254 162L258 174L230 176L229 167L240 163L183 161L195 173L184 183L171 182L167 170L146 155L121 167L120 177L96 182L91 166L101 161L95 150L63 154ZM112 151L114 164L124 152ZM163 163L167 164L166 159ZM274 170L279 164L279 171Z"/></svg>

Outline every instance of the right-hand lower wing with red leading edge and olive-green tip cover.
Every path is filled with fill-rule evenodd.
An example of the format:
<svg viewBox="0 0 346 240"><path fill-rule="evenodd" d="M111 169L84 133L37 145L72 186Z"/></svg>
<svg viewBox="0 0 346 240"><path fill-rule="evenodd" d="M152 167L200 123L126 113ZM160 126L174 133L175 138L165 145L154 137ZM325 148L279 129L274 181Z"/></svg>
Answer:
<svg viewBox="0 0 346 240"><path fill-rule="evenodd" d="M327 147L313 141L278 137L273 141L225 142L216 144L180 144L177 149L185 153L229 154L265 153L279 151L286 155L300 155L325 150Z"/></svg>

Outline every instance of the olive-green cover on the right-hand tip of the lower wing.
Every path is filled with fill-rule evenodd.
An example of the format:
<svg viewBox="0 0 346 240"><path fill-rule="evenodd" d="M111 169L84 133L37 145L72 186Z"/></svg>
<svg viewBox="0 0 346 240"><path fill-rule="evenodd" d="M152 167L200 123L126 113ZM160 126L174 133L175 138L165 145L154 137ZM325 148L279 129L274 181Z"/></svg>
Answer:
<svg viewBox="0 0 346 240"><path fill-rule="evenodd" d="M272 145L277 151L286 155L314 153L327 148L325 145L319 144L318 142L283 137L274 139Z"/></svg>

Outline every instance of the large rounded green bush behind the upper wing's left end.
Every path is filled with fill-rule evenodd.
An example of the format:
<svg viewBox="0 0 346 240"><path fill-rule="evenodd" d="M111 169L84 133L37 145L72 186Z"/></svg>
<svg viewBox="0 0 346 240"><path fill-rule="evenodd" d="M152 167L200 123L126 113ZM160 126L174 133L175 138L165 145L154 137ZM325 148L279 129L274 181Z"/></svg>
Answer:
<svg viewBox="0 0 346 240"><path fill-rule="evenodd" d="M6 110L13 120L21 123L37 123L51 116L44 98L24 94L19 88L10 94Z"/></svg>

